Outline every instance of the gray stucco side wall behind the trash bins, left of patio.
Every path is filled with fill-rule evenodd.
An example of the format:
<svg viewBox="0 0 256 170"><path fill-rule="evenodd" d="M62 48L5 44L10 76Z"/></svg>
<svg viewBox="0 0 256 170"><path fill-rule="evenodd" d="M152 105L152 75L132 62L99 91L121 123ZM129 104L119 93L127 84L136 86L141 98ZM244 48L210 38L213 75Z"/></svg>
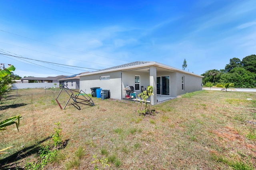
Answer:
<svg viewBox="0 0 256 170"><path fill-rule="evenodd" d="M109 80L100 80L100 76L110 76ZM80 76L80 90L86 94L91 94L92 87L100 87L104 90L110 90L110 98L121 99L121 72L109 72L103 74L93 74Z"/></svg>

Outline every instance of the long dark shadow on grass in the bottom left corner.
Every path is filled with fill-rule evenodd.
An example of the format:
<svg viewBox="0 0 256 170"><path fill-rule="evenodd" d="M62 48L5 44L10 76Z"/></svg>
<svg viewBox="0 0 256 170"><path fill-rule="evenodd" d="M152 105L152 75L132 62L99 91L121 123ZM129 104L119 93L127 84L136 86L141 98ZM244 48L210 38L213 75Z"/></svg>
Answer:
<svg viewBox="0 0 256 170"><path fill-rule="evenodd" d="M0 159L0 169L1 170L12 170L12 169L23 170L24 167L16 167L16 164L19 163L17 161L22 160L23 158L26 158L27 156L30 156L32 154L38 153L38 151L41 149L40 144L47 141L50 138L51 137L47 137L42 141L39 141L35 145L23 148L22 150L17 151L14 154L4 159ZM12 167L12 166L15 166L15 167Z"/></svg>

